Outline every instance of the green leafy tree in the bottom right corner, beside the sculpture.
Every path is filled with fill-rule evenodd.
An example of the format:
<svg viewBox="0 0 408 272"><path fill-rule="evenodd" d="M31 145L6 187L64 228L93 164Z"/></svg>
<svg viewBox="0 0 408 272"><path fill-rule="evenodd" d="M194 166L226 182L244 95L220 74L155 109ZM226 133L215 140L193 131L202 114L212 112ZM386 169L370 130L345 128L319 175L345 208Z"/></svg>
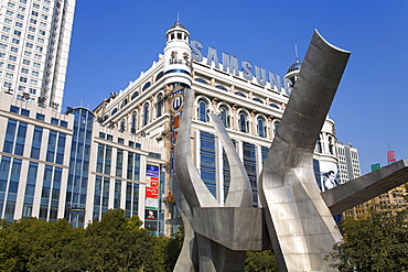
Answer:
<svg viewBox="0 0 408 272"><path fill-rule="evenodd" d="M408 271L408 209L372 210L359 219L344 219L344 242L335 244L339 271Z"/></svg>

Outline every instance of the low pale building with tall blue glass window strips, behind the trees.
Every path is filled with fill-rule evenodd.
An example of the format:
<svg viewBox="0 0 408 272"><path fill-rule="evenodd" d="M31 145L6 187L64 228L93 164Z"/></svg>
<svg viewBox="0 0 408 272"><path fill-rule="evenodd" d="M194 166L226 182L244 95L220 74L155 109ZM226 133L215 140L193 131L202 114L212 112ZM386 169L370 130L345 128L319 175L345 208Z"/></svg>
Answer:
<svg viewBox="0 0 408 272"><path fill-rule="evenodd" d="M58 113L6 93L0 101L0 218L66 218L77 227L121 208L163 232L167 154L154 139L100 127L85 108Z"/></svg>

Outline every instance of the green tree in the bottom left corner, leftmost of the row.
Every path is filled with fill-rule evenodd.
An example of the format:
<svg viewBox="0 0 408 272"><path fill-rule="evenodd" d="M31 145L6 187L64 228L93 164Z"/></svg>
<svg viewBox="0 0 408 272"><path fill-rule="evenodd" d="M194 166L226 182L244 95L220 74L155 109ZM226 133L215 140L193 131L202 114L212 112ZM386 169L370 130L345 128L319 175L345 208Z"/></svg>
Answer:
<svg viewBox="0 0 408 272"><path fill-rule="evenodd" d="M82 228L73 229L65 220L54 222L22 218L1 222L0 271L80 271L85 269L75 247ZM73 249L75 247L75 249ZM71 254L76 252L76 254Z"/></svg>

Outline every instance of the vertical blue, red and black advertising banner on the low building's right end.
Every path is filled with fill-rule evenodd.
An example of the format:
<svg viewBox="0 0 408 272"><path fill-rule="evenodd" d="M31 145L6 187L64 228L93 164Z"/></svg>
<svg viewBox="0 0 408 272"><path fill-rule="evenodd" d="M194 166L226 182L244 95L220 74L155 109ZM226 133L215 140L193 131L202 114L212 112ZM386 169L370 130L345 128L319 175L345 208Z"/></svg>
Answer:
<svg viewBox="0 0 408 272"><path fill-rule="evenodd" d="M159 209L159 165L147 165L146 171L146 205L144 205L144 228L154 235L158 230L158 209Z"/></svg>

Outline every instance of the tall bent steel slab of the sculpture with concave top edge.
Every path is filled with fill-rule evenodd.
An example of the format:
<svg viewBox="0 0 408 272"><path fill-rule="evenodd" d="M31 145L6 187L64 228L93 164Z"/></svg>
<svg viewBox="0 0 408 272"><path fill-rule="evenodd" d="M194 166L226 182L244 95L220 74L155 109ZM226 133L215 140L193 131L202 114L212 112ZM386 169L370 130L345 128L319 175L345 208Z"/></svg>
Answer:
<svg viewBox="0 0 408 272"><path fill-rule="evenodd" d="M314 32L260 175L260 200L281 271L333 270L324 255L342 237L312 162L348 56Z"/></svg>

